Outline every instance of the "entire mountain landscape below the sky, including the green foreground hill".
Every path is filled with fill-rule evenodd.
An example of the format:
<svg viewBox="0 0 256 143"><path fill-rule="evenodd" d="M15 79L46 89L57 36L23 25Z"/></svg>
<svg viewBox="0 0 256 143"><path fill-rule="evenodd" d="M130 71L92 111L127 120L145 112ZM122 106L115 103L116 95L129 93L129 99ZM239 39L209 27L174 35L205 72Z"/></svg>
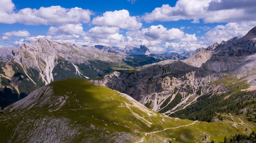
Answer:
<svg viewBox="0 0 256 143"><path fill-rule="evenodd" d="M255 137L256 27L191 55L45 38L1 50L1 142Z"/></svg>

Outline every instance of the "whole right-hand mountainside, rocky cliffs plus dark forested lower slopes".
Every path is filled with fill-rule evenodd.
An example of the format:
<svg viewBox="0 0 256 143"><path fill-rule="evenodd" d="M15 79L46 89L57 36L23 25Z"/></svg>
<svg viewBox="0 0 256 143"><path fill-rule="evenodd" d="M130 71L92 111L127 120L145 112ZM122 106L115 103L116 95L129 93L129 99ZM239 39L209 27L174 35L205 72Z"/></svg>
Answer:
<svg viewBox="0 0 256 143"><path fill-rule="evenodd" d="M255 126L256 27L185 60L161 61L91 81L171 117L210 122L217 113L230 113Z"/></svg>

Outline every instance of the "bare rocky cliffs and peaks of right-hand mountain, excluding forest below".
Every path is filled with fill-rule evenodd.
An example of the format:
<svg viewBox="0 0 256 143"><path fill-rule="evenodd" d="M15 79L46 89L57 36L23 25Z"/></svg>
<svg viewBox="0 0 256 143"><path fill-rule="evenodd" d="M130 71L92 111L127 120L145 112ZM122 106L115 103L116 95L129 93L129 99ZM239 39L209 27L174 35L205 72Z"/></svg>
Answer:
<svg viewBox="0 0 256 143"><path fill-rule="evenodd" d="M221 83L224 77L256 85L255 29L241 39L200 49L183 61L161 61L139 67L137 72L115 72L92 82L127 93L154 111L170 115L202 95L227 93L229 89Z"/></svg>

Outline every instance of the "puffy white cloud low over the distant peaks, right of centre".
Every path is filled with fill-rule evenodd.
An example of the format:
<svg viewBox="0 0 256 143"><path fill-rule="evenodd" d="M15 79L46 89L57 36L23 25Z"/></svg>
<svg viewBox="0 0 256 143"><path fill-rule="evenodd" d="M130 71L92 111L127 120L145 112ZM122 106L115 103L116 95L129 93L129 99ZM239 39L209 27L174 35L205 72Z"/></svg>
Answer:
<svg viewBox="0 0 256 143"><path fill-rule="evenodd" d="M160 24L128 31L126 35L132 37L133 44L147 45L147 48L155 53L194 51L206 46L199 43L195 34L187 34L177 28L167 29ZM161 43L164 43L162 47L160 47Z"/></svg>

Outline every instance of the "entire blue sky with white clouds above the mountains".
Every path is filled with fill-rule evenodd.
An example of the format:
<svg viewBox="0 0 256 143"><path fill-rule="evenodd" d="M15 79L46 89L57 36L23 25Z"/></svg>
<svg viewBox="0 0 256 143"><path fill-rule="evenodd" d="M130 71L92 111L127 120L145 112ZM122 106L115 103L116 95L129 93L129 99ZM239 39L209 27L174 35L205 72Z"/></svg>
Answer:
<svg viewBox="0 0 256 143"><path fill-rule="evenodd" d="M194 51L243 37L255 0L0 0L0 47L46 37L81 45Z"/></svg>

